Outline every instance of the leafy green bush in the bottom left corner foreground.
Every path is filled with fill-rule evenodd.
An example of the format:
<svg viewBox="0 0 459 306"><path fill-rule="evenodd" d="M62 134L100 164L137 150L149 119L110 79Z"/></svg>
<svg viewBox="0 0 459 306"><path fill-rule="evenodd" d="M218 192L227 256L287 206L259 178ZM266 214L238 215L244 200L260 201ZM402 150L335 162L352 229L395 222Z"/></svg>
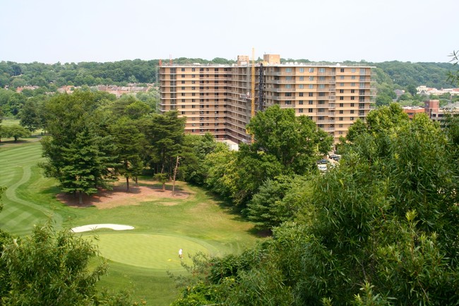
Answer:
<svg viewBox="0 0 459 306"><path fill-rule="evenodd" d="M69 230L56 233L45 225L23 239L1 234L0 249L0 305L131 305L124 293L98 292L107 266L90 269L97 249Z"/></svg>

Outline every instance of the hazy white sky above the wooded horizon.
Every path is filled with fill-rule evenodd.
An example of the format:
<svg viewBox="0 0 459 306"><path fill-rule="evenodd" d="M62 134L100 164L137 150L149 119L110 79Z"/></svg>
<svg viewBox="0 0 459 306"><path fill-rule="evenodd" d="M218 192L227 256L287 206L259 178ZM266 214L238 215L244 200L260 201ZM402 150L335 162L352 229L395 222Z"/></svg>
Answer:
<svg viewBox="0 0 459 306"><path fill-rule="evenodd" d="M0 61L450 61L458 0L0 0Z"/></svg>

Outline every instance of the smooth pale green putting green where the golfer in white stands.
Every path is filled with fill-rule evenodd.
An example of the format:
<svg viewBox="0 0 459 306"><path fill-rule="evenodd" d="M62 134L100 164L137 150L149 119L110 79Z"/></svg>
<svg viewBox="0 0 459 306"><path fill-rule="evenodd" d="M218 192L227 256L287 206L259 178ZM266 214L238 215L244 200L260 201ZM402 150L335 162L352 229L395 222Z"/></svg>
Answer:
<svg viewBox="0 0 459 306"><path fill-rule="evenodd" d="M180 261L191 264L189 254L216 251L201 240L169 235L100 233L94 242L106 259L160 270L183 269ZM179 259L179 249L183 249L183 259Z"/></svg>

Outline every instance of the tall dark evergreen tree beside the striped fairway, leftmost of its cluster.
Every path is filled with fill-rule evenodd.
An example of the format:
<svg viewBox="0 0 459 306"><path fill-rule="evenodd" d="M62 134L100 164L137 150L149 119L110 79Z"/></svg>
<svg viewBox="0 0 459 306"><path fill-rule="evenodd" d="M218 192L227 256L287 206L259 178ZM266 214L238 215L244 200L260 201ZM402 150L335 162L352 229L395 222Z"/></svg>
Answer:
<svg viewBox="0 0 459 306"><path fill-rule="evenodd" d="M45 175L59 180L65 192L94 194L114 180L117 156L111 136L105 132L100 109L103 96L77 91L58 95L46 104L46 128L42 139Z"/></svg>

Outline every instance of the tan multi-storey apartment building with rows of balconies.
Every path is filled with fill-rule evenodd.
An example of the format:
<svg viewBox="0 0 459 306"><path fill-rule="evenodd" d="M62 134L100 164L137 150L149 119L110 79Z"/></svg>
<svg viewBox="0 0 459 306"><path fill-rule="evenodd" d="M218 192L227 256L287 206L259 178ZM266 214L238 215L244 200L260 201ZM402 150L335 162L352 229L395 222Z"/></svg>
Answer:
<svg viewBox="0 0 459 306"><path fill-rule="evenodd" d="M162 64L160 110L186 117L186 133L210 132L217 139L246 142L246 124L271 105L310 117L338 142L358 118L365 119L376 96L371 66L285 63L265 54L254 64L239 56L237 64Z"/></svg>

